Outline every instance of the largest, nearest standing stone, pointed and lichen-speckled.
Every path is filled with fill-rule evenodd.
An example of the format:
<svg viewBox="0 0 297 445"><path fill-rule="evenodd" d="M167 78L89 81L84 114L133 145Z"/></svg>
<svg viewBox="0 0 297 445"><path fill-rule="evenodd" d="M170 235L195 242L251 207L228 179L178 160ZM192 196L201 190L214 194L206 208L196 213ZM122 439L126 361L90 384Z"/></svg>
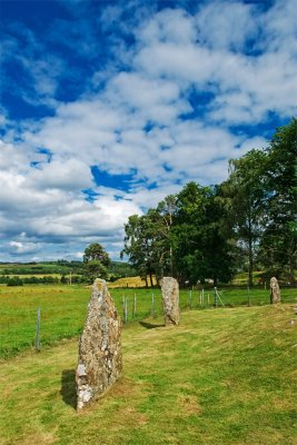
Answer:
<svg viewBox="0 0 297 445"><path fill-rule="evenodd" d="M97 278L79 342L77 408L103 394L121 375L121 323L107 284Z"/></svg>

